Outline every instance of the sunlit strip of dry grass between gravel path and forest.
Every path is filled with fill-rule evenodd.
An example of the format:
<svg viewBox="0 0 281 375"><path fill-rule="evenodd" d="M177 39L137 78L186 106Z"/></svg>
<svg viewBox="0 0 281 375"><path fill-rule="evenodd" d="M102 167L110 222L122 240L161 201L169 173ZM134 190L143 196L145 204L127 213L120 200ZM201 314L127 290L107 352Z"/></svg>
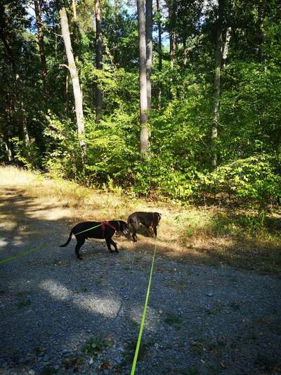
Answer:
<svg viewBox="0 0 281 375"><path fill-rule="evenodd" d="M256 212L209 208L181 208L162 201L129 197L121 189L86 189L74 182L46 179L15 167L0 167L0 186L14 186L44 204L67 208L69 224L82 220L125 220L136 210L159 211L158 251L182 262L231 265L240 269L281 274L280 215L268 215L266 226L256 224ZM123 241L131 250L152 251L155 240L139 236Z"/></svg>

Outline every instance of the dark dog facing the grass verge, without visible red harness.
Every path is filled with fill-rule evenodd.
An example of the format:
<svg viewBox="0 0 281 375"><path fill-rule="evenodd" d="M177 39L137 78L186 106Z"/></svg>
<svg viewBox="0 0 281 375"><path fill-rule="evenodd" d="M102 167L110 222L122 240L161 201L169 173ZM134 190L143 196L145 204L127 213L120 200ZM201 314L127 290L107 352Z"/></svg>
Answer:
<svg viewBox="0 0 281 375"><path fill-rule="evenodd" d="M147 228L147 234L149 227L153 228L155 236L157 237L157 225L161 220L161 214L158 212L133 212L128 217L127 224L128 227L133 227L133 241L136 242L136 232L140 227L140 224L143 224Z"/></svg>

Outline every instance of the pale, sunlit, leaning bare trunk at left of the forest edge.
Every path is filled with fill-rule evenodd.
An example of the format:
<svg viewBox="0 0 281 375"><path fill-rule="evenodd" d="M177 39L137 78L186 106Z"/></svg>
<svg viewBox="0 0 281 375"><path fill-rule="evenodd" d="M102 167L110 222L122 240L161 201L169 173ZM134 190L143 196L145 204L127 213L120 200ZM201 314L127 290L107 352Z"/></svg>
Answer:
<svg viewBox="0 0 281 375"><path fill-rule="evenodd" d="M85 130L84 130L84 115L83 115L83 103L82 103L82 94L79 84L79 76L74 61L74 56L72 52L71 40L70 40L70 30L68 27L68 20L65 8L60 8L60 25L63 34L63 41L65 42L65 51L68 61L68 69L70 70L70 76L72 79L72 87L75 101L75 113L77 121L77 131L79 146L81 148L81 157L83 162L86 158L86 144L85 144Z"/></svg>

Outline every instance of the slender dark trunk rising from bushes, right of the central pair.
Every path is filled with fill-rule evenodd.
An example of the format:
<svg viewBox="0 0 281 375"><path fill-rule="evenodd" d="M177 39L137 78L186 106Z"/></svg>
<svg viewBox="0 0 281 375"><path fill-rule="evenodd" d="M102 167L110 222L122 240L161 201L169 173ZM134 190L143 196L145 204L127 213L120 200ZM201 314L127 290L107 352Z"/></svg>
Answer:
<svg viewBox="0 0 281 375"><path fill-rule="evenodd" d="M224 0L218 0L218 23L216 29L216 51L215 51L215 77L214 77L214 106L213 126L211 129L211 166L217 165L216 140L218 138L218 110L221 91L221 60L222 60L222 34L223 34L223 11Z"/></svg>

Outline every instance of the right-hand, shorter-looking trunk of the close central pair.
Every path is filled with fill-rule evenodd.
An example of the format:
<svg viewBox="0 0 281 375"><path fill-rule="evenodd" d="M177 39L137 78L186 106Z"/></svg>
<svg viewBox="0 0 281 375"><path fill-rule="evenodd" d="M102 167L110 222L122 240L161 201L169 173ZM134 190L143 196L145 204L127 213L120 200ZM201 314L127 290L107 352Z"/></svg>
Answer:
<svg viewBox="0 0 281 375"><path fill-rule="evenodd" d="M152 70L152 0L145 0L145 40L146 40L146 91L148 93L148 115L151 108Z"/></svg>

